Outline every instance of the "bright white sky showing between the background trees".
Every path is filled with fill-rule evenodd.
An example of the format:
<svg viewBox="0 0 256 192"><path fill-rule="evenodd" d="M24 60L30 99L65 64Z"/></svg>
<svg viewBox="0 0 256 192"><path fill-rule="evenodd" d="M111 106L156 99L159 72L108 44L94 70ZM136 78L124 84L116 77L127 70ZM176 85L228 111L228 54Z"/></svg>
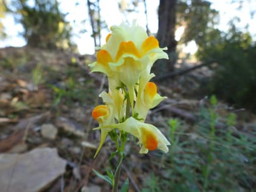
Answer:
<svg viewBox="0 0 256 192"><path fill-rule="evenodd" d="M118 2L125 2L124 0L101 0L101 16L107 23L108 29L110 26L119 24L122 21L126 20L126 16L119 11ZM220 24L219 29L227 30L230 18L233 16L238 16L241 18L241 23L238 27L244 27L246 23L249 24L249 32L251 34L256 34L256 26L255 21L251 19L250 12L252 9L256 7L255 0L246 0L244 1L243 9L237 10L239 7L239 3L230 4L232 0L212 0L212 8L219 11L220 15ZM71 22L74 30L73 41L77 44L79 52L81 54L93 54L94 53L94 43L93 38L91 38L91 28L90 23L88 21L88 9L86 5L86 1L78 0L79 5L76 5L76 1L70 0L62 0L59 1L60 9L63 10L64 13L69 13L66 16L66 20ZM159 1L146 1L147 2L147 11L148 11L148 24L149 30L154 34L157 32L158 27L158 19L157 19L157 9ZM132 20L137 20L137 23L140 26L144 26L146 28L146 16L144 15L144 5L142 2L138 4L138 12L137 13L129 13L129 22ZM80 21L85 21L85 24L80 24ZM74 22L75 21L75 22ZM0 47L4 46L24 46L26 41L23 38L18 37L18 34L23 31L23 27L21 24L15 24L13 17L11 15L7 15L4 20L2 20L4 26L6 28L7 34L9 38L7 40L0 40ZM254 22L254 23L253 23ZM87 30L84 34L79 34L79 30L85 29ZM183 29L179 29L179 32L176 33L176 40L179 40L180 34L182 34ZM105 36L108 34L108 30L102 30L102 43L105 41ZM185 52L193 52L196 51L196 44L192 41L188 44L186 48L183 49Z"/></svg>

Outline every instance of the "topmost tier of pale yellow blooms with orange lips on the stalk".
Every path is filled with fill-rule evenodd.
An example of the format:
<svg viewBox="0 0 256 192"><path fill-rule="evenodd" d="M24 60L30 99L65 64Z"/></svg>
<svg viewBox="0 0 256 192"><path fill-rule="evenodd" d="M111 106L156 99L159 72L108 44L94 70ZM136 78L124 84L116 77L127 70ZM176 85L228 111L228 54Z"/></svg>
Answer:
<svg viewBox="0 0 256 192"><path fill-rule="evenodd" d="M115 79L116 84L126 85L133 108L134 88L142 71L146 68L150 71L155 60L168 59L168 55L163 52L165 48L159 48L155 37L148 37L146 30L135 23L113 26L111 30L112 34L107 36L106 44L97 54L97 61L89 66L92 72L107 74L109 82ZM110 90L115 88L110 87Z"/></svg>

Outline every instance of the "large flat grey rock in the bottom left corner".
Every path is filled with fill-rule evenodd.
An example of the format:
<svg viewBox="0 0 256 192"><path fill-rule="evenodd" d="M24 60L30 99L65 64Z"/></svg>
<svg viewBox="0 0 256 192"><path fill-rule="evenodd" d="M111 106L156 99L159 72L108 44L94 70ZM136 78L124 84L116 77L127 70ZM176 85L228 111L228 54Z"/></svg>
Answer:
<svg viewBox="0 0 256 192"><path fill-rule="evenodd" d="M59 157L57 149L0 154L1 191L42 191L65 172L65 167L66 161Z"/></svg>

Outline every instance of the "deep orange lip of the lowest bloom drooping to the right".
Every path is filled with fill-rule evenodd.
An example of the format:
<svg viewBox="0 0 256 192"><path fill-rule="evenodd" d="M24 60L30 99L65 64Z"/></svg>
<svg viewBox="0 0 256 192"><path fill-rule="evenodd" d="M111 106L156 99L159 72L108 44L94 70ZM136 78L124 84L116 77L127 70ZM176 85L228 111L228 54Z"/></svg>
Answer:
<svg viewBox="0 0 256 192"><path fill-rule="evenodd" d="M145 148L153 151L157 149L158 141L157 137L150 130L147 130L144 127L141 127L142 130L142 142Z"/></svg>

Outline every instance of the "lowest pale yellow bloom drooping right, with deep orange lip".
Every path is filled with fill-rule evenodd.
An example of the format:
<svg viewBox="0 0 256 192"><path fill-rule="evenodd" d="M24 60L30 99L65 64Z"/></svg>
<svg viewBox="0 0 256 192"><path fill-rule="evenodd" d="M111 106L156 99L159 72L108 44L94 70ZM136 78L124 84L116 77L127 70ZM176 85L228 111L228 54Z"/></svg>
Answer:
<svg viewBox="0 0 256 192"><path fill-rule="evenodd" d="M108 125L109 127L123 130L138 138L138 144L141 145L140 153L146 154L148 151L160 149L163 152L168 152L169 141L165 138L162 132L157 127L138 121L137 119L130 117L124 121L124 123ZM107 126L106 126L107 127ZM102 130L105 127L99 127ZM96 128L98 129L98 128Z"/></svg>

